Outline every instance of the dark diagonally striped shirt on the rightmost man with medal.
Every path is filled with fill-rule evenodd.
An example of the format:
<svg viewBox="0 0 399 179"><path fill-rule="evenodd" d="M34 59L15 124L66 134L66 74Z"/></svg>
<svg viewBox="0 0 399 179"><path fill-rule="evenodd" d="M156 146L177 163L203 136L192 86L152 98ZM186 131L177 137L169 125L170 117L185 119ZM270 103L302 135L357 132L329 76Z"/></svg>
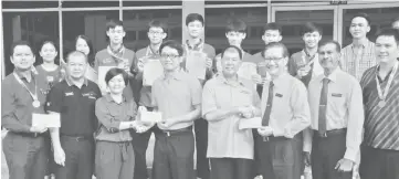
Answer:
<svg viewBox="0 0 399 179"><path fill-rule="evenodd" d="M379 149L399 150L399 73L395 74L387 104L382 108L378 107L380 99L377 83L380 83L384 92L390 74L376 82L377 73L377 66L370 67L360 81L365 105L364 144Z"/></svg>

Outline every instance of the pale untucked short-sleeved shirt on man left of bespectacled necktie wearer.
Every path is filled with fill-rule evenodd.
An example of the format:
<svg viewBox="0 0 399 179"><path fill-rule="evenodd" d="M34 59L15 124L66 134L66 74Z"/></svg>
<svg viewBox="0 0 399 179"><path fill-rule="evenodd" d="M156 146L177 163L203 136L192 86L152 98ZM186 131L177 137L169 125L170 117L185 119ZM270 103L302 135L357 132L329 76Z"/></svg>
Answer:
<svg viewBox="0 0 399 179"><path fill-rule="evenodd" d="M207 82L202 93L202 117L218 109L252 105L260 108L260 97L254 84L239 77L238 84L229 83L223 75ZM239 129L240 115L232 115L208 123L209 158L253 159L252 129Z"/></svg>

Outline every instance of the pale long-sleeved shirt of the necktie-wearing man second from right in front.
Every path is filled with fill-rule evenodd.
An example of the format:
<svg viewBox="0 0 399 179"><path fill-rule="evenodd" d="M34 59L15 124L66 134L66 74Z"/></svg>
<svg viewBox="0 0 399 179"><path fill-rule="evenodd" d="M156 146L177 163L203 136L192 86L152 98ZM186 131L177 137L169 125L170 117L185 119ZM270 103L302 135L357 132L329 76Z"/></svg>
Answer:
<svg viewBox="0 0 399 179"><path fill-rule="evenodd" d="M318 129L318 109L324 74L316 76L308 85L308 97L312 114L311 128ZM347 128L346 152L344 158L356 160L361 144L363 124L365 119L359 82L339 67L327 76L328 94L326 108L327 130ZM304 150L312 150L312 143L304 144Z"/></svg>

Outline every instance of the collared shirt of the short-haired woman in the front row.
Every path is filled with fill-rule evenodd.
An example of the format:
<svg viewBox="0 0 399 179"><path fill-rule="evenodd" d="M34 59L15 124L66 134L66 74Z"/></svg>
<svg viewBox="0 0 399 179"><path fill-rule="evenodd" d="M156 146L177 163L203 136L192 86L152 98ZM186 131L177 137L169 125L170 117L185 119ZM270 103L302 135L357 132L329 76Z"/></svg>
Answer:
<svg viewBox="0 0 399 179"><path fill-rule="evenodd" d="M109 94L98 98L95 106L95 114L99 122L96 139L130 141L130 131L128 129L119 131L119 125L122 122L134 120L137 114L136 108L136 103L125 97L120 104L116 103Z"/></svg>

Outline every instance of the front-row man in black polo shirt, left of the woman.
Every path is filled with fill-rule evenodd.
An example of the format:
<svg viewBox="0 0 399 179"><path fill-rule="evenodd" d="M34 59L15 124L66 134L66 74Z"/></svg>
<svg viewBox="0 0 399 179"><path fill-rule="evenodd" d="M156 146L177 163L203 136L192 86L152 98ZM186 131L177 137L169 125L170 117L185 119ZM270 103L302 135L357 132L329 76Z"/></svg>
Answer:
<svg viewBox="0 0 399 179"><path fill-rule="evenodd" d="M48 95L46 109L61 116L61 127L51 128L56 179L91 179L94 170L95 102L102 96L85 78L87 56L78 51L66 55L66 77Z"/></svg>

